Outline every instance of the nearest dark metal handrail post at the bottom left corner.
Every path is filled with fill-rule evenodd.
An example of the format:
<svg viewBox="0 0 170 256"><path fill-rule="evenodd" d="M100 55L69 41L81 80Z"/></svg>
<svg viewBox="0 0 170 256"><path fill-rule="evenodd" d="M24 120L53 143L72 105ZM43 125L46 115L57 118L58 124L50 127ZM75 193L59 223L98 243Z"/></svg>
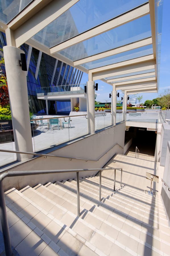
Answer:
<svg viewBox="0 0 170 256"><path fill-rule="evenodd" d="M7 212L6 212L6 206L5 206L5 197L3 192L2 181L0 181L0 216L1 216L3 240L5 245L5 254L6 256L11 256L12 249L11 249L11 241L10 241L10 235L9 235L9 226L8 226L8 220L7 220Z"/></svg>

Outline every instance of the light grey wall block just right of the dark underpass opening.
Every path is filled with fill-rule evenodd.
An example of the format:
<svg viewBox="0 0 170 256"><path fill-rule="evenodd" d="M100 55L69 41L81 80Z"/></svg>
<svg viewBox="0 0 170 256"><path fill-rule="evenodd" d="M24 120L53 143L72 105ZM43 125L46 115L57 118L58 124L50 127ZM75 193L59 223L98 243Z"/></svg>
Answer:
<svg viewBox="0 0 170 256"><path fill-rule="evenodd" d="M162 124L162 131L161 131L161 145L160 145L160 166L165 166L165 158L167 152L167 144L170 140L170 125L169 124Z"/></svg>

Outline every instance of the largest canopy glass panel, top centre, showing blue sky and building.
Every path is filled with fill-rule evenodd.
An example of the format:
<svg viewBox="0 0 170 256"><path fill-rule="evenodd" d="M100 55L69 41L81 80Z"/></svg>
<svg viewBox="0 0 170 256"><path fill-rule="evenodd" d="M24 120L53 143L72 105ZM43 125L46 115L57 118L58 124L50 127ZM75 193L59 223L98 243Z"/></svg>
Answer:
<svg viewBox="0 0 170 256"><path fill-rule="evenodd" d="M136 0L107 0L106 4L103 0L80 0L33 38L50 48L146 2L138 0L136 4Z"/></svg>

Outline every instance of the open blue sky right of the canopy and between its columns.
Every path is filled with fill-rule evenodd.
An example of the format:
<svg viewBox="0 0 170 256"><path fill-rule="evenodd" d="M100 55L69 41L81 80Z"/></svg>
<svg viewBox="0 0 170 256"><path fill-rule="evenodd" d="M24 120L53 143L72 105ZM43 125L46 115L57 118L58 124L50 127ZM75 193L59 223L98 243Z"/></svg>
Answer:
<svg viewBox="0 0 170 256"><path fill-rule="evenodd" d="M158 93L142 93L138 94L138 96L143 96L142 102L145 100L152 100L157 98L160 93L162 93L165 89L170 89L170 0L163 0L163 19L162 19L162 38L161 38L161 65L160 65L160 79L159 79L159 92ZM88 81L88 75L86 73L83 74L82 83L86 83ZM100 80L96 80L98 82L98 94L96 101L105 102L109 99L109 93L111 93L112 86L106 84ZM121 100L121 94L118 100Z"/></svg>

